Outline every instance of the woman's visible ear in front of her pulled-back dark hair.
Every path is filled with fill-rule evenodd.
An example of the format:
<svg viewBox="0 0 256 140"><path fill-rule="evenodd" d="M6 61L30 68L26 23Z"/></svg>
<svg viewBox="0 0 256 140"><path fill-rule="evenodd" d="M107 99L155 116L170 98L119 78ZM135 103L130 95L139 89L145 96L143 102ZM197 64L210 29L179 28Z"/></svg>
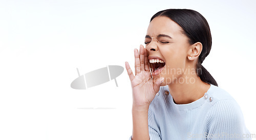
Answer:
<svg viewBox="0 0 256 140"><path fill-rule="evenodd" d="M190 45L190 49L188 50L187 58L188 60L195 60L199 57L203 50L203 45L201 42L196 42L193 45Z"/></svg>

